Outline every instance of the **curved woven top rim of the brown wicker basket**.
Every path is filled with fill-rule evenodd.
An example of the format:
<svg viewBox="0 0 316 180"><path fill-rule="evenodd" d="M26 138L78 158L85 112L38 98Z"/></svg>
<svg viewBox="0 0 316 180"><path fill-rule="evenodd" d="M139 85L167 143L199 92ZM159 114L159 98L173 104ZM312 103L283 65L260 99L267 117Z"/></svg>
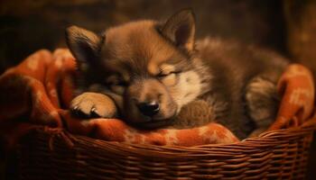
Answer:
<svg viewBox="0 0 316 180"><path fill-rule="evenodd" d="M311 118L298 127L292 127L283 130L266 131L258 137L244 139L240 142L230 144L207 144L192 147L181 146L159 146L148 144L131 144L127 142L106 141L103 139L92 139L86 136L70 134L67 130L56 131L55 133L47 132L44 129L36 129L39 136L49 135L54 144L55 138L60 138L59 133L62 132L76 144L84 145L90 148L88 153L98 153L107 151L112 157L142 157L142 158L195 158L195 157L231 157L243 156L245 153L252 153L258 148L262 150L263 155L269 150L273 150L276 146L288 144L291 140L302 139L311 135L316 129L316 119ZM57 135L57 136L56 136ZM46 140L47 138L43 138ZM265 152L266 151L266 152Z"/></svg>

